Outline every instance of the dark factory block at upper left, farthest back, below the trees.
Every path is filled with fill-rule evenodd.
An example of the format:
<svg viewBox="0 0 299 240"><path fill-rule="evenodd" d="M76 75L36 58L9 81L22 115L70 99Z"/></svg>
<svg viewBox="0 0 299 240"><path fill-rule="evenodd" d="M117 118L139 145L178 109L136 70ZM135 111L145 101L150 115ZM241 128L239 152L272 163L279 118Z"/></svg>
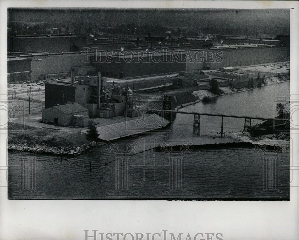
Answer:
<svg viewBox="0 0 299 240"><path fill-rule="evenodd" d="M76 52L87 46L84 36L11 37L8 51Z"/></svg>

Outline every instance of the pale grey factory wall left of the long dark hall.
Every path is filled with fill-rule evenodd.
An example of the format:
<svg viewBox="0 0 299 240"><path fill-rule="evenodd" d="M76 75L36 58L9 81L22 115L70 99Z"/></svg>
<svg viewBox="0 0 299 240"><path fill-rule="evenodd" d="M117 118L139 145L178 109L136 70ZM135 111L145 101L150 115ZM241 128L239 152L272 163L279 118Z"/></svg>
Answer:
<svg viewBox="0 0 299 240"><path fill-rule="evenodd" d="M43 74L71 72L72 67L89 66L89 63L84 62L83 53L36 56L30 59L32 59L32 80L38 80L39 76Z"/></svg>

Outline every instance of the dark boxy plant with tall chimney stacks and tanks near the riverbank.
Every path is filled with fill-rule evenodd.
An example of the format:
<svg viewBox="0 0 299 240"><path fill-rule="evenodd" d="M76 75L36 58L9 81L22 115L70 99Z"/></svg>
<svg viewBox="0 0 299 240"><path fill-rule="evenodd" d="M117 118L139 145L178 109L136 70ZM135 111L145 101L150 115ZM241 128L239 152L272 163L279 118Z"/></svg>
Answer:
<svg viewBox="0 0 299 240"><path fill-rule="evenodd" d="M75 102L88 109L90 117L109 118L123 115L132 96L130 89L121 90L118 84L107 82L100 73L98 76L78 76L75 82L73 69L71 82L61 80L45 84L45 109Z"/></svg>

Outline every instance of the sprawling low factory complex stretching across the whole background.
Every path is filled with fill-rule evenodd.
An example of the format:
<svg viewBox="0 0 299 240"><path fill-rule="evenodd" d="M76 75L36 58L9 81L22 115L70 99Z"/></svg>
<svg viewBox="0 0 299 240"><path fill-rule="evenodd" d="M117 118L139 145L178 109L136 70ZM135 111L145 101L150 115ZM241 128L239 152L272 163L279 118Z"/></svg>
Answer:
<svg viewBox="0 0 299 240"><path fill-rule="evenodd" d="M65 75L69 77L71 69L73 68L75 71L74 74L77 76L95 75L97 72L101 72L103 77L129 79L184 71L192 74L191 72L195 73L202 69L219 69L227 66L244 66L286 61L289 59L289 35L277 35L275 39L227 36L224 36L224 38L212 36L208 39L204 37L164 39L165 37L150 36L144 39L103 38L97 40L90 39L89 41L93 41L93 43L89 44L87 44L86 38L84 43L82 39L82 41L79 39L78 44L75 44L76 46L80 45L82 48L88 46L90 48L97 47L99 51L100 49L115 49L119 52L121 49L120 46L124 46L122 53L120 53L120 55L118 54L118 56L110 55L112 61L108 62L92 62L99 54L104 56L107 53L106 50L99 53L94 52L94 49L92 49L88 56L82 51L70 52L74 50L70 49L70 46L72 46L71 39L75 41L75 39L77 39L76 37L77 36L74 35L12 37L14 40L20 38L24 41L29 41L27 39L40 39L39 41L50 41L45 39L54 39L51 41L57 41L57 44L54 44L55 47L51 44L47 45L44 42L44 47L40 46L41 49L38 49L43 52L30 53L28 50L37 49L23 48L15 49L22 50L22 52L9 52L8 59L11 57L19 57L31 60L31 69L26 67L26 70L20 70L21 68L19 68L19 70L13 70L13 72L19 72L19 75L23 74L24 77L22 77L22 79L40 80L45 78L61 78L57 77L61 74L63 74L62 76ZM35 45L34 41L28 42L30 48ZM59 41L62 41L62 43L60 44ZM56 45L60 46L61 49L56 49ZM126 46L128 48L126 48ZM165 49L161 49L162 47L167 47L168 53L165 53ZM25 50L27 50L27 52L25 52ZM127 50L130 50L130 52ZM198 50L204 51L205 58L202 59L201 62L194 61L193 54ZM217 50L222 51L222 61L208 61L206 54L209 51ZM181 59L184 59L189 52L193 59L192 61L172 61L170 51L173 52L175 58L176 55L179 54ZM134 52L136 54L132 54ZM144 52L145 56L140 58L140 52ZM161 54L159 52L161 52ZM150 60L148 60L148 57ZM89 61L86 61L88 58ZM160 61L165 58L167 61ZM152 61L152 59L155 59L156 62ZM160 62L157 63L157 61ZM16 65L15 63L8 64ZM16 77L13 77L13 72L8 72L10 73L9 77L11 82L16 81Z"/></svg>

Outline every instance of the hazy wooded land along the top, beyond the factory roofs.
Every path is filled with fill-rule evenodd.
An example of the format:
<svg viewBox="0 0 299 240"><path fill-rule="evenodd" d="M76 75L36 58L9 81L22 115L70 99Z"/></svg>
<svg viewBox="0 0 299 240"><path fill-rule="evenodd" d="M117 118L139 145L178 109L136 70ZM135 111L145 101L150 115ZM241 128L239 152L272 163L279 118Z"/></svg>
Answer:
<svg viewBox="0 0 299 240"><path fill-rule="evenodd" d="M276 35L290 33L289 9L8 9L12 35L52 28L95 38L109 36Z"/></svg>

